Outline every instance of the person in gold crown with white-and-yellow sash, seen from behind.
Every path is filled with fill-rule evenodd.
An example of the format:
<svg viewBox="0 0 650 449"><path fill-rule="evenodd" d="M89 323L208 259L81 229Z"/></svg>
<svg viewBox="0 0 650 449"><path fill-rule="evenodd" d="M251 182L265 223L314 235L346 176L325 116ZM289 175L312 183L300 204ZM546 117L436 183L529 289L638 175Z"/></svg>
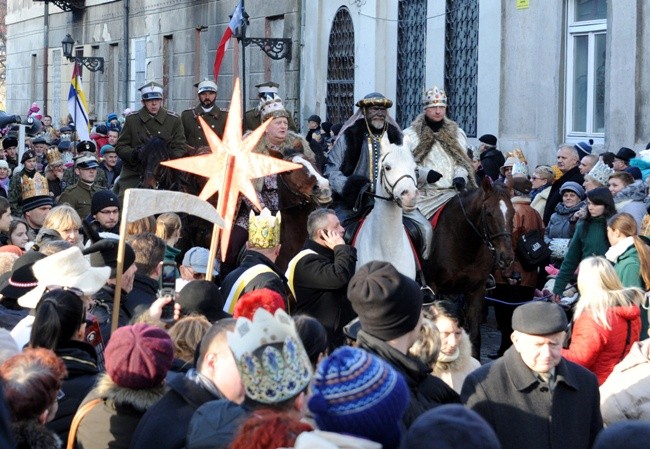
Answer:
<svg viewBox="0 0 650 449"><path fill-rule="evenodd" d="M226 275L221 293L226 302L224 311L232 315L239 298L250 291L268 288L287 298L286 279L275 260L280 254L280 213L274 217L267 208L259 215L250 211L248 242L238 268Z"/></svg>

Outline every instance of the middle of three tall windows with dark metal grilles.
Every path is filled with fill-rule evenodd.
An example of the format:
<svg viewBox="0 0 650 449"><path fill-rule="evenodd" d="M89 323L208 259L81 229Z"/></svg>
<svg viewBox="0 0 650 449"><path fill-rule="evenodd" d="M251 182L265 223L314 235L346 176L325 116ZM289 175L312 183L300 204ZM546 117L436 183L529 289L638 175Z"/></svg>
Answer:
<svg viewBox="0 0 650 449"><path fill-rule="evenodd" d="M402 0L398 8L395 117L406 128L422 112L426 90L427 0Z"/></svg>

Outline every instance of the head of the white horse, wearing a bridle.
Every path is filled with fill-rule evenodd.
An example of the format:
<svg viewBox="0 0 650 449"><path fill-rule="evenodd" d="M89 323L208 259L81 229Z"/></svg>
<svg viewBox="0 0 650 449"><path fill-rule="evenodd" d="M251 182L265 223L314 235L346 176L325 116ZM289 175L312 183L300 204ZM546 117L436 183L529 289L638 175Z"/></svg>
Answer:
<svg viewBox="0 0 650 449"><path fill-rule="evenodd" d="M382 147L376 193L388 195L404 210L416 208L419 195L413 154L401 145Z"/></svg>

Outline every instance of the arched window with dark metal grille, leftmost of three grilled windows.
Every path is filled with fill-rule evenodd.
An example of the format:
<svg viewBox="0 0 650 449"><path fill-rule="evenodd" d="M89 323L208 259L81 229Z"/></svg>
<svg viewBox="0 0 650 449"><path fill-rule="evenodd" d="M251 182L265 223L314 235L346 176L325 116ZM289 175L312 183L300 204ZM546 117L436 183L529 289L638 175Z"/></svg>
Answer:
<svg viewBox="0 0 650 449"><path fill-rule="evenodd" d="M354 26L346 7L334 16L327 53L327 121L343 123L354 109Z"/></svg>

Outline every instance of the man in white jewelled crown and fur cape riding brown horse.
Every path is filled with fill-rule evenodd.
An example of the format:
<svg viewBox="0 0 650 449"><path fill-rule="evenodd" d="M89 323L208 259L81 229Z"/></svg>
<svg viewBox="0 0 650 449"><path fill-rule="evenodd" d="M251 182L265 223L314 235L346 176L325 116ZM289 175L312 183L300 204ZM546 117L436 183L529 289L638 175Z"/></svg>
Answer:
<svg viewBox="0 0 650 449"><path fill-rule="evenodd" d="M447 94L433 86L425 92L424 112L404 130L404 145L420 167L440 176L420 182L418 207L430 218L458 191L476 188L472 161L467 156L467 136L456 122L447 118Z"/></svg>

